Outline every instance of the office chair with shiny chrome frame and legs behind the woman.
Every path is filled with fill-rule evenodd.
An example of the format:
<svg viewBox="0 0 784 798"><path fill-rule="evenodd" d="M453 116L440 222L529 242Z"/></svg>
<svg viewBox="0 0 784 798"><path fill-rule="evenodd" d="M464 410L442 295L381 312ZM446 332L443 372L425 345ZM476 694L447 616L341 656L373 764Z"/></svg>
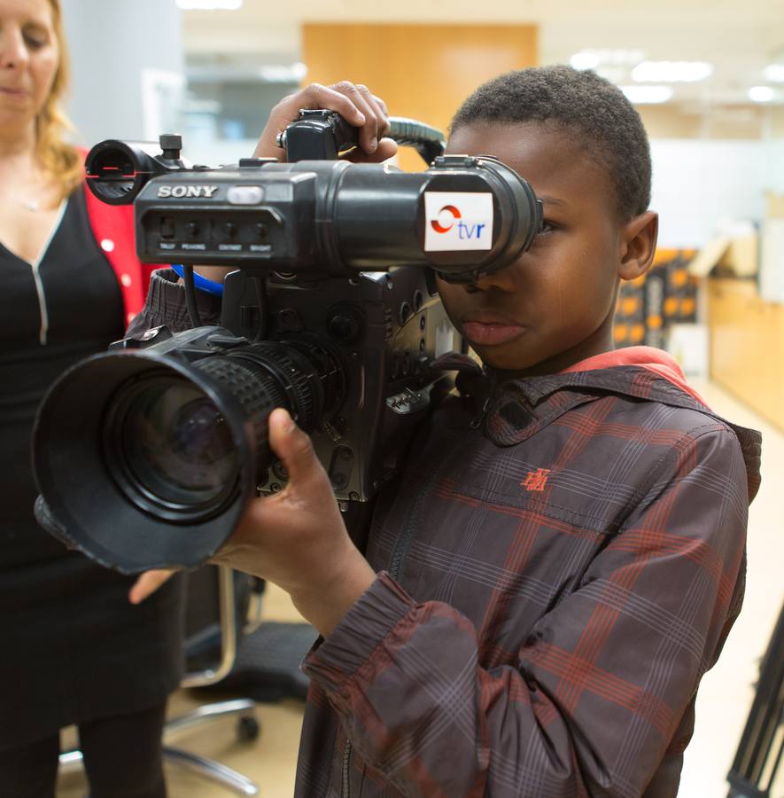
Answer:
<svg viewBox="0 0 784 798"><path fill-rule="evenodd" d="M227 677L237 659L237 638L243 630L245 615L252 599L252 578L232 571L228 566L206 566L188 575L188 600L186 602L186 662L204 662L214 652L214 638L220 640L220 654L215 667L198 665L182 678L186 688L215 685ZM257 602L260 599L257 598ZM204 613L205 606L212 603ZM206 618L212 622L204 622ZM257 612L258 616L258 612ZM221 784L239 795L256 795L259 786L226 765L193 754L180 747L167 745L167 739L194 726L216 718L237 716L237 737L255 739L259 735L259 722L255 716L255 703L240 698L222 700L194 709L186 715L172 718L164 727L164 759ZM82 763L82 752L74 748L60 754L61 768Z"/></svg>

